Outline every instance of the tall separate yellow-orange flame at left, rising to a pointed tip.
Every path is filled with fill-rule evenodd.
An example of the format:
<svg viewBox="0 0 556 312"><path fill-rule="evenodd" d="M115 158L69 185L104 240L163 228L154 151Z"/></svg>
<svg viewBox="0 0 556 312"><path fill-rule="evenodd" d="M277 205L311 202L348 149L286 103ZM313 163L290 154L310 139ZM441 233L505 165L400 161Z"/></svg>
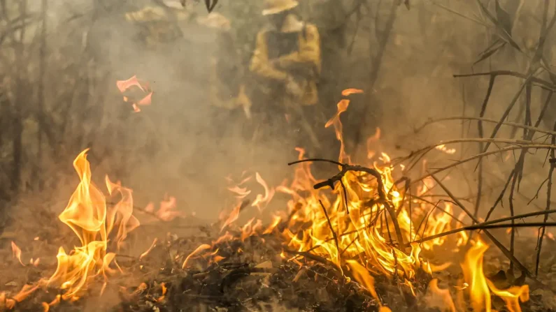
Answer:
<svg viewBox="0 0 556 312"><path fill-rule="evenodd" d="M108 177L108 193L119 193L121 200L107 207L104 194L91 182L87 151L82 151L73 161L80 184L71 195L66 209L59 215L60 221L77 235L81 246L76 246L69 254L64 247L60 247L56 272L45 281L48 287L65 290L62 299L78 299L94 278L102 275L106 280L108 275L115 274L116 270L110 267L115 253L108 252L108 236L117 228L112 241L119 249L129 232L139 225L132 215L131 189L111 182Z"/></svg>

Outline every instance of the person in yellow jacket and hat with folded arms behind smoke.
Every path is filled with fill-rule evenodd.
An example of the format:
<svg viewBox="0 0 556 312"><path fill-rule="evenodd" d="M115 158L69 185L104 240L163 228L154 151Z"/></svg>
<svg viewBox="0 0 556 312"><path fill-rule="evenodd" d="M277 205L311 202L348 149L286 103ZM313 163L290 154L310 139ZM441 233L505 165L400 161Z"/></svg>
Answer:
<svg viewBox="0 0 556 312"><path fill-rule="evenodd" d="M314 24L294 13L295 0L266 0L262 15L269 25L259 31L250 70L257 78L252 96L264 110L267 130L290 131L295 144L320 148L315 126L318 115L317 82L320 76L320 37ZM277 132L275 132L277 131Z"/></svg>

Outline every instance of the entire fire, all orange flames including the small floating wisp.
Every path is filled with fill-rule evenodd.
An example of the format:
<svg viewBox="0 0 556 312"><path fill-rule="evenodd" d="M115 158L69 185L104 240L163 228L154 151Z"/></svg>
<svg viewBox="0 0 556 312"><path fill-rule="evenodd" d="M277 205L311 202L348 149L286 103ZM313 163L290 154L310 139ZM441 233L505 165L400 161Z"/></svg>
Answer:
<svg viewBox="0 0 556 312"><path fill-rule="evenodd" d="M132 86L144 91L143 85L135 76L117 82L117 87L122 92ZM357 93L362 91L347 89L343 92L343 96ZM252 179L252 175L243 172L238 183L228 178L232 184L228 190L234 195L237 203L233 208L223 211L217 223L220 232L224 232L224 229L227 232L211 244L199 244L187 256L176 255L176 261L183 260L182 269L192 267L193 260L197 258L204 258L209 264L224 260L225 258L218 254L219 248L215 247L216 244L232 240L244 242L254 235L262 236L260 239L264 242L266 239L264 235L275 235L282 239L283 249L280 257L284 261L292 261L299 265L300 271L294 278L294 282L300 278L302 270L305 269L301 258L304 255L308 258L310 252L311 255L332 263L337 269L338 277L341 278L338 281L345 283L355 281L376 300L380 312L389 312L390 308L383 304L376 292L373 275L383 274L390 277L405 292L415 296L418 288L414 288L413 285L417 282L415 276L419 271L432 274L452 265L451 262L433 264L420 258L420 254L422 251L434 251L438 246L451 243L456 245L457 250L458 246L468 242L469 237L466 232L459 232L456 235L457 240L438 237L421 244L414 242L455 228L455 222L459 219L454 217L455 209L450 202L439 202L434 205L415 198L411 200L411 195L406 193L407 189L397 188L397 180L394 176L399 167L394 167L390 156L380 151L376 153L373 151L372 155L368 154L370 162L372 161L369 168L374 171L344 170L345 166L350 164L350 156L345 151L340 116L348 109L349 103L349 100L342 99L337 105L335 116L325 125L334 126L336 138L341 143L338 156L340 163L336 165L341 168L343 175L338 176L338 183L327 184L332 186L332 192L315 188L315 184L322 181L316 179L311 173L309 161L299 163L294 168L294 178L290 183L285 181L276 187L269 186L262 176L255 172L259 193L252 192L245 186L245 183ZM376 142L379 137L380 129L377 129L376 136L368 141L368 144ZM297 151L299 161L304 161L304 149L297 148ZM423 165L425 167L425 161ZM119 267L117 269L111 267L115 262L113 251L124 248L129 233L139 226L138 220L133 216L132 191L106 176L108 195L120 198L116 204L108 205L104 193L91 181L87 149L76 157L73 167L78 172L80 183L71 195L68 205L59 215L59 219L73 230L80 240L80 246L73 248L70 253L66 253L62 246L59 247L55 273L37 285L27 285L12 298L6 298L4 293L0 293L0 306L3 304L4 307L12 309L16 302L20 302L41 286L61 288L64 290L63 294L58 295L50 304L43 304L45 311L48 311L50 306L63 300L78 299L92 281L98 278L104 278L104 285L101 288L103 292L107 286L108 276L117 274ZM434 180L424 179L418 185L417 196L431 193L433 188ZM273 211L270 214L272 221L269 225L264 225L263 218L257 216L253 216L243 225L236 224L242 209L249 205L249 201L245 198L251 193L256 195L250 206L257 207L259 214L262 214L272 202L276 193L288 196L289 200L285 210ZM165 221L180 216L176 211L176 198L161 202L157 211L151 203L145 211ZM419 220L420 223L415 225L414 220ZM148 255L157 243L155 239L150 248L141 254L139 260ZM464 281L458 281L458 285L461 286L441 289L438 281L433 279L428 288L432 298L429 305L437 306L442 311L457 311L450 295L452 290L457 291L457 303L463 302L463 294L466 293L469 295L473 311L488 312L492 311L492 292L493 295L504 299L509 311L521 312L520 302L529 299L528 286L513 286L507 290L497 289L483 272L483 254L488 246L478 238L470 243L471 248L462 263ZM24 265L21 260L21 250L14 242L12 242L12 250L13 256ZM236 250L238 253L243 252L240 247ZM31 264L38 265L38 258L31 259ZM167 296L166 285L162 283L160 286L162 294L157 297L157 302L164 301Z"/></svg>

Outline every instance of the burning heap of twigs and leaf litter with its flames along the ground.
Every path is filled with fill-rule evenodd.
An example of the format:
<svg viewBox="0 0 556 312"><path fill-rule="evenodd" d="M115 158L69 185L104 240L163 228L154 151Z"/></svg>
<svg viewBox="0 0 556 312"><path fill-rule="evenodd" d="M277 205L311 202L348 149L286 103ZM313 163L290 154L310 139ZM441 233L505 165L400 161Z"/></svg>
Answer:
<svg viewBox="0 0 556 312"><path fill-rule="evenodd" d="M138 257L117 254L139 226L132 214L131 190L106 177L108 193L120 194L119 202L107 205L91 182L83 151L74 161L81 182L59 216L78 236L80 246L69 254L60 247L50 278L38 278L15 295L2 293L0 305L17 310L42 306L44 311L79 310L93 304L96 311L191 311L202 306L269 311L281 306L288 311L380 312L467 307L492 311L494 306L518 312L522 302L543 299L529 296L525 277L532 274L488 229L555 211L481 223L434 172L419 179L412 192L415 182L403 176L404 165L395 165L387 154L369 167L351 165L340 122L348 105L347 99L338 103L336 116L327 123L341 142L338 161L328 161L340 168L334 177L315 179L311 163L326 160L304 159L304 150L298 149L290 184L272 188L257 173L255 181L264 193L250 202L246 198L251 191L245 185L252 177L230 179L229 190L238 202L222 211L218 223L200 227L199 237L169 233ZM394 180L398 171L401 178ZM448 197L431 202L434 185ZM264 223L265 208L281 195L289 198L287 208L273 212L272 221ZM257 207L258 218L237 225L248 207ZM456 207L462 212L456 214ZM472 225L465 226L467 218ZM483 257L488 246L479 235L471 238L467 230L482 231L522 270L522 276L501 272L487 278ZM446 261L448 254L461 255L461 266ZM101 306L94 299L110 295L119 304Z"/></svg>

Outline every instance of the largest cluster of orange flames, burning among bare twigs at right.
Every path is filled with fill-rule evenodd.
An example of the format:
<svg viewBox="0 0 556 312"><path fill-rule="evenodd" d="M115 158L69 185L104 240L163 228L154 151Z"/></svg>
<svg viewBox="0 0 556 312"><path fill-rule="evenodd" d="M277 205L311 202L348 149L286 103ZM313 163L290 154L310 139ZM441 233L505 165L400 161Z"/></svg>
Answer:
<svg viewBox="0 0 556 312"><path fill-rule="evenodd" d="M348 96L352 93L354 92L346 90L343 95ZM325 125L334 126L336 139L341 143L338 161L348 164L350 156L345 153L340 115L348 109L349 103L348 99L342 99L337 105L336 114ZM376 138L372 138L369 142L375 142L379 136L380 130L377 130ZM304 149L297 148L297 151L299 161L303 161ZM448 150L443 151L452 153ZM437 246L448 244L454 244L453 250L457 251L459 246L468 242L469 237L466 232L459 232L453 236L454 239L438 237L422 244L405 245L403 242L412 242L456 228L455 223L461 223L459 220L462 219L462 215L460 214L458 218L454 216L451 202L441 201L434 205L431 202L415 199L411 200L413 211L410 214L407 190L397 188L394 179L397 168L392 165L390 156L380 152L369 154L370 158L374 158L375 155L379 155L378 160L373 161L369 168L380 174L380 181L372 174L342 170L341 183L334 184L332 196L321 191L320 188L313 187L322 181L315 179L311 173L310 161L297 164L291 183L283 183L275 188L276 192L290 196L287 210L274 214L273 222L266 228L259 226L260 220L251 218L244 225L236 226L241 233L240 237L227 237L227 239L243 241L250 235L271 235L278 229L278 234L284 239L284 251L280 253L280 257L299 263L300 268L303 265L299 262L302 258L299 253L311 252L332 262L338 272L345 274L346 280L349 279L348 276L352 276L379 304L380 298L374 289L372 277L375 274L397 278L400 281L399 285L403 285L408 292L415 295L413 283L418 270L432 274L452 265L452 262L433 264L422 260L421 251L434 251ZM424 170L426 165L426 161L423 161ZM343 169L343 165L341 168ZM401 169L404 170L404 167ZM266 194L270 193L271 188L259 175L256 179L265 190L265 195L257 195L257 200L265 198L268 204L272 198ZM417 196L432 193L434 186L434 179L424 179L418 185ZM241 184L236 184L229 190L241 199L250 194L250 190ZM238 220L240 211L241 205L237 205L227 216L221 216L223 222L221 230L224 228L231 230L233 223ZM395 218L395 222L392 217ZM420 219L420 222L416 225L412 219ZM280 222L283 222L283 227L278 227ZM396 223L399 230L394 230ZM462 265L465 283L459 283L463 286L458 291L469 292L471 306L475 311L491 311L490 292L492 291L494 295L506 300L508 309L519 312L518 299L522 301L527 299L528 288L522 286L509 290L495 289L483 274L482 257L487 246L478 239L471 244L472 248L466 253L466 260ZM430 292L439 298L436 302L439 302L441 309L456 311L450 297L450 290L442 290L438 287L437 281L432 281ZM386 311L388 308L381 306L380 309Z"/></svg>

